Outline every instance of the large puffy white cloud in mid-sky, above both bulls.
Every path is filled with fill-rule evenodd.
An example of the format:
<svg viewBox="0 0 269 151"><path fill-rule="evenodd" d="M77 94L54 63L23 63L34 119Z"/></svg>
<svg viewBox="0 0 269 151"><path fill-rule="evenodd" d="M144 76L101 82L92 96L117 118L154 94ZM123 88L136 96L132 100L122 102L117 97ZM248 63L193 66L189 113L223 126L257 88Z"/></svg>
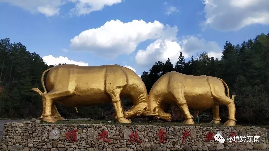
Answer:
<svg viewBox="0 0 269 151"><path fill-rule="evenodd" d="M132 53L139 43L149 39L176 39L177 31L176 26L170 27L159 21L146 23L143 20L133 20L123 23L111 20L99 28L81 32L70 40L70 47L114 58L120 54Z"/></svg>

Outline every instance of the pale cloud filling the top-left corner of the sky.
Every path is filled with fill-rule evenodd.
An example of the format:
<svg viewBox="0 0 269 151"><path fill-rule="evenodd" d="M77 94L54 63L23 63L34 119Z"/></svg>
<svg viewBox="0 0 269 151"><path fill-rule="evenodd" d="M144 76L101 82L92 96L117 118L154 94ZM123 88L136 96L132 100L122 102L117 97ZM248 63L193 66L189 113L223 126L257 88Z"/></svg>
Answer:
<svg viewBox="0 0 269 151"><path fill-rule="evenodd" d="M47 17L58 15L59 7L65 3L63 0L0 0L2 2L19 6L31 13L42 13Z"/></svg>

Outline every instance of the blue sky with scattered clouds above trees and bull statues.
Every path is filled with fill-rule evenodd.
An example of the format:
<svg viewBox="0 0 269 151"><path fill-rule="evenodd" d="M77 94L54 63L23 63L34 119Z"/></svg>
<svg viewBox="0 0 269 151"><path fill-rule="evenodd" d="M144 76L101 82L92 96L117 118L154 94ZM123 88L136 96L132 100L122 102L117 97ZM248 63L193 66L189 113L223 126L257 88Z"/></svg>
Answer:
<svg viewBox="0 0 269 151"><path fill-rule="evenodd" d="M48 64L119 64L138 75L180 51L220 58L269 31L268 0L0 0L0 38Z"/></svg>

